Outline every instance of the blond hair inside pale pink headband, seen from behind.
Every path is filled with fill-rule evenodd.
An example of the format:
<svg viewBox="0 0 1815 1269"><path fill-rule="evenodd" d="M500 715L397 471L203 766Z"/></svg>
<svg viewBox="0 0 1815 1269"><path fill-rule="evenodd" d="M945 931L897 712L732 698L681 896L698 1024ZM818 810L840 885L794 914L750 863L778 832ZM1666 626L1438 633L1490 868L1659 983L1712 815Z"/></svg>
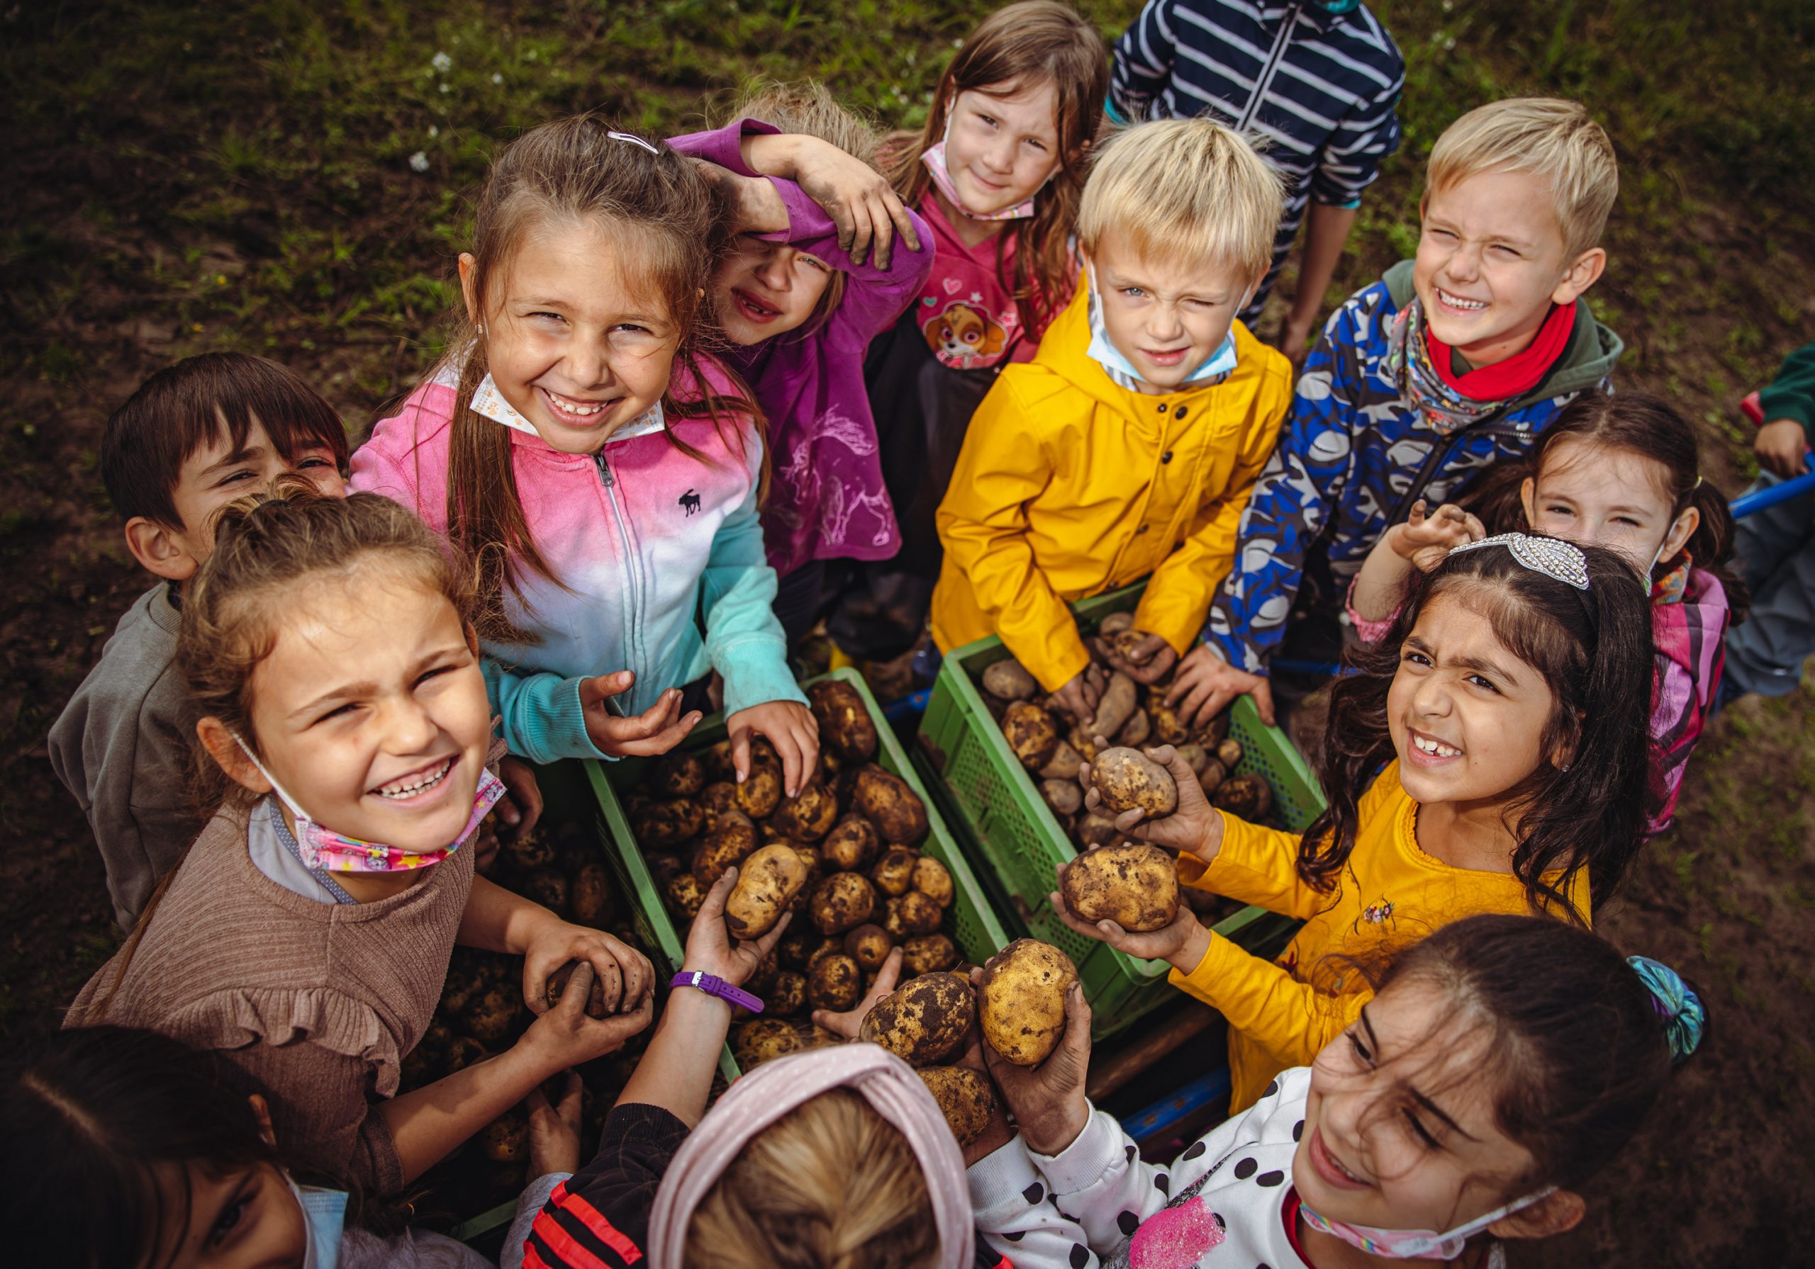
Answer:
<svg viewBox="0 0 1815 1269"><path fill-rule="evenodd" d="M693 1209L686 1265L924 1269L938 1229L920 1160L860 1095L833 1088L757 1133Z"/></svg>

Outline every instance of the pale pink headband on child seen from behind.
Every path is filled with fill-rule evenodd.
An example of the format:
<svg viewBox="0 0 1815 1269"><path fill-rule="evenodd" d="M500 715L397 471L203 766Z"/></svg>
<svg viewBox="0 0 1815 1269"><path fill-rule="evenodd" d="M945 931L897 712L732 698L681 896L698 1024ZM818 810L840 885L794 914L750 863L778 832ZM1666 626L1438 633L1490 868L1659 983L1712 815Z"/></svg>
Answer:
<svg viewBox="0 0 1815 1269"><path fill-rule="evenodd" d="M958 1140L913 1068L877 1044L840 1044L780 1057L731 1084L699 1128L688 1133L655 1191L650 1269L681 1269L693 1209L739 1151L782 1115L833 1088L862 1095L908 1138L933 1200L940 1269L969 1269L975 1227Z"/></svg>

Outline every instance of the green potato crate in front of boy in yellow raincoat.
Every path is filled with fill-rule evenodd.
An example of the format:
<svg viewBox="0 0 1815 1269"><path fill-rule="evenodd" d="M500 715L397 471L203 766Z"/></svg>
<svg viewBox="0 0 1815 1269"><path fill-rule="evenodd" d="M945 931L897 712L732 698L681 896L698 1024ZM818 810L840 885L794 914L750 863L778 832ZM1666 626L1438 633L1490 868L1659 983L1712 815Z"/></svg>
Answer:
<svg viewBox="0 0 1815 1269"><path fill-rule="evenodd" d="M1085 634L1111 613L1131 611L1145 582L1078 600L1073 613ZM1053 914L1047 896L1056 888L1055 870L1076 857L1027 769L1015 758L1007 738L982 696L982 674L1009 651L996 636L949 653L933 683L920 740L940 769L949 794L944 805L955 827L973 847L978 868L995 872L996 888L1007 896L1027 932L1062 948L1078 966L1098 1039L1165 1003L1165 961L1142 961L1107 943L1069 930ZM1310 767L1278 727L1267 727L1254 702L1241 696L1231 714L1229 734L1241 741L1238 774L1256 772L1272 787L1276 814L1287 828L1301 830L1323 810L1323 794ZM1265 908L1243 908L1218 921L1212 930L1247 948L1276 946L1285 917Z"/></svg>

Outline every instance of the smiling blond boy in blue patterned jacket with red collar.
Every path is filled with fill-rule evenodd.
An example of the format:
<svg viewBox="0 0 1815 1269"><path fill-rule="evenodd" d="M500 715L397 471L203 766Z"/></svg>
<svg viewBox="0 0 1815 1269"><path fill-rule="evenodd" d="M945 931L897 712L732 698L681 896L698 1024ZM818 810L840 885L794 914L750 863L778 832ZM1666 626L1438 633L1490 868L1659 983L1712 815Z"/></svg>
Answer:
<svg viewBox="0 0 1815 1269"><path fill-rule="evenodd" d="M1290 624L1287 654L1330 658L1350 580L1416 500L1454 500L1577 393L1612 392L1623 344L1583 292L1617 196L1614 145L1575 102L1494 102L1437 138L1418 257L1356 292L1305 361L1236 567L1171 691L1187 720L1249 693L1272 722L1269 660L1294 600L1312 620Z"/></svg>

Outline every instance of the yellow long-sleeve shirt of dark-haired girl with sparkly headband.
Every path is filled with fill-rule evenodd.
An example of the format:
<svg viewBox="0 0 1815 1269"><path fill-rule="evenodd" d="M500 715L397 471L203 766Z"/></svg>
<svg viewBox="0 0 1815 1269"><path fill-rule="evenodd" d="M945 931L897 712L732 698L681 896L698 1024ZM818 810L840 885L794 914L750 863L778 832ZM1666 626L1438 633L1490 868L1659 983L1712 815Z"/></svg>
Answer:
<svg viewBox="0 0 1815 1269"><path fill-rule="evenodd" d="M1300 836L1223 814L1223 845L1209 867L1180 856L1178 879L1305 925L1278 961L1249 955L1212 934L1191 974L1171 983L1229 1019L1229 1111L1247 1109L1280 1071L1309 1066L1374 999L1354 963L1418 943L1437 926L1483 912L1530 912L1510 872L1456 868L1418 845L1418 803L1387 767L1361 796L1356 847L1330 894L1298 876ZM1555 883L1555 874L1546 874ZM1588 874L1565 888L1588 919ZM1349 957L1349 959L1345 959Z"/></svg>

